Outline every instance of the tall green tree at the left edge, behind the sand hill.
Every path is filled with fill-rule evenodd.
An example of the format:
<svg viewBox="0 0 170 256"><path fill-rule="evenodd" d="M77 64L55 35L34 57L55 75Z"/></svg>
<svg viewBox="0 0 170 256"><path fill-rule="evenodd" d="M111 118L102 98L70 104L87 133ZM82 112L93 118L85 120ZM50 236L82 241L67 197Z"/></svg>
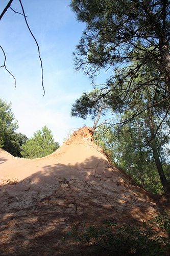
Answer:
<svg viewBox="0 0 170 256"><path fill-rule="evenodd" d="M18 128L17 121L11 110L11 102L8 104L0 98L0 147L8 143L9 138ZM5 148L4 148L5 149Z"/></svg>

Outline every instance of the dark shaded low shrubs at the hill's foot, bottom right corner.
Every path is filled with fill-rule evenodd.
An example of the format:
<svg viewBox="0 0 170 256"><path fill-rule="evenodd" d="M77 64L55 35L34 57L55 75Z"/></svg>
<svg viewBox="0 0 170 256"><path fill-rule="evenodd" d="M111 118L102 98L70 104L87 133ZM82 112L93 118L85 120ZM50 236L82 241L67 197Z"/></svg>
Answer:
<svg viewBox="0 0 170 256"><path fill-rule="evenodd" d="M64 240L73 237L76 241L91 245L94 255L138 255L138 256L167 256L170 252L170 211L164 211L148 222L143 222L143 228L124 226L106 221L101 226L86 226L85 223L72 227ZM152 224L152 225L151 225ZM155 227L163 230L160 236ZM93 248L93 249L92 249ZM93 254L91 254L93 255Z"/></svg>

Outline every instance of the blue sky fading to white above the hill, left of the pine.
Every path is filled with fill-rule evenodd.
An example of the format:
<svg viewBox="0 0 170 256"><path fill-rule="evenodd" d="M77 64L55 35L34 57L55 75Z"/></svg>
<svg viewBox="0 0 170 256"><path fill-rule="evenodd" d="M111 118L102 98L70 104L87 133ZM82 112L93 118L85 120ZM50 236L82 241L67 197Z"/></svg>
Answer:
<svg viewBox="0 0 170 256"><path fill-rule="evenodd" d="M1 13L8 2L0 2ZM19 125L16 132L31 138L46 125L60 145L73 130L93 125L90 119L70 116L71 104L83 92L90 92L92 86L83 72L74 70L72 52L85 24L77 22L69 3L70 0L22 0L28 24L40 48L44 97L37 46L23 16L8 9L0 23L0 45L7 57L6 67L16 78L15 88L13 77L4 68L0 69L0 97L12 102L12 111ZM18 0L13 0L11 8L21 12ZM1 51L0 66L3 63ZM104 82L106 77L103 73L96 83Z"/></svg>

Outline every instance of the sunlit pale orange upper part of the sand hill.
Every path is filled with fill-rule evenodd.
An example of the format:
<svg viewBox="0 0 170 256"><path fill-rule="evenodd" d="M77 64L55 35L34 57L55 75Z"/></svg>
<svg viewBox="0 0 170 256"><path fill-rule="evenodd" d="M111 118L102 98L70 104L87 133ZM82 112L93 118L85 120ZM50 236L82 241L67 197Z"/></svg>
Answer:
<svg viewBox="0 0 170 256"><path fill-rule="evenodd" d="M0 149L0 181L3 180L15 180L18 181L26 179L34 175L34 177L39 176L39 174L48 175L50 169L54 169L56 174L59 173L60 168L57 166L63 166L63 175L67 172L69 175L69 170L71 167L79 168L85 167L87 169L95 168L98 165L99 159L103 163L108 163L106 156L103 154L102 148L96 146L92 142L91 133L84 133L84 129L81 133L73 138L67 140L63 145L58 148L53 154L39 159L22 159L13 157L8 152ZM72 170L73 172L73 170ZM74 176L74 172L72 173ZM77 176L77 172L75 173Z"/></svg>

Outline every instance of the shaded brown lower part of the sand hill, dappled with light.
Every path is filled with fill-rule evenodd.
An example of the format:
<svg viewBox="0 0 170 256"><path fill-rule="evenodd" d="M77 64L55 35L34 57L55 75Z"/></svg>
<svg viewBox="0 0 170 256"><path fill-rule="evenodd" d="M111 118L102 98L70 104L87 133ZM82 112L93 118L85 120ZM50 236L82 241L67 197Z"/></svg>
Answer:
<svg viewBox="0 0 170 256"><path fill-rule="evenodd" d="M149 193L110 163L98 168L100 163L91 157L74 166L46 165L16 184L1 186L0 255L96 255L89 246L63 242L64 234L82 222L141 226L159 214Z"/></svg>

